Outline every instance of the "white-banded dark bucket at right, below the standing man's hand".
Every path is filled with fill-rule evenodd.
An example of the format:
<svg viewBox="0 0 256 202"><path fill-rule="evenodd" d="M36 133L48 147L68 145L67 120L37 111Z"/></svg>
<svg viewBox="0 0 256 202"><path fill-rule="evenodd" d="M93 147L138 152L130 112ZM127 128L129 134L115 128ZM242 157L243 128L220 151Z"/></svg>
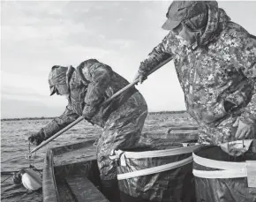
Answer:
<svg viewBox="0 0 256 202"><path fill-rule="evenodd" d="M237 157L220 146L203 146L193 152L198 202L256 202L256 140L250 144Z"/></svg>

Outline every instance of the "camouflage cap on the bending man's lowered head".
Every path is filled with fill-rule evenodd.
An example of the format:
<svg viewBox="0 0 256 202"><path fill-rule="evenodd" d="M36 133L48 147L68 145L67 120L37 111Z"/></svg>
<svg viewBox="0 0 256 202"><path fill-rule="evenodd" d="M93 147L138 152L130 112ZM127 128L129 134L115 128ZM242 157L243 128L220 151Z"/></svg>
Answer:
<svg viewBox="0 0 256 202"><path fill-rule="evenodd" d="M49 72L49 90L50 95L56 93L56 85L57 84L65 84L66 83L66 72L68 71L67 67L63 66L53 66L51 71Z"/></svg>

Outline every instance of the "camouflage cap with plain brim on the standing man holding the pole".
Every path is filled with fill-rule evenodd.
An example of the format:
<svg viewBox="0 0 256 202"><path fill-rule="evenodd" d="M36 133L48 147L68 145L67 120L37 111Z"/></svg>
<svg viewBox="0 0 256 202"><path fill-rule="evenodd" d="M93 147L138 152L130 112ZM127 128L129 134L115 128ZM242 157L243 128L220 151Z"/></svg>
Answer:
<svg viewBox="0 0 256 202"><path fill-rule="evenodd" d="M168 8L166 22L162 29L172 30L185 19L192 19L207 11L207 4L204 1L173 1Z"/></svg>

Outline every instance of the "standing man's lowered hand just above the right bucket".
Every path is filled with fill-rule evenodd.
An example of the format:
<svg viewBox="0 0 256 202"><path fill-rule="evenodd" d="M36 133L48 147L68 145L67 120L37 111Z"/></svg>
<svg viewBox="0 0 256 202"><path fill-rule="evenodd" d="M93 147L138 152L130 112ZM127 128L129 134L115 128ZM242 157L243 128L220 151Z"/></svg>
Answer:
<svg viewBox="0 0 256 202"><path fill-rule="evenodd" d="M235 135L236 139L245 139L249 138L250 136L253 137L254 129L252 123L244 123L238 117L233 126L237 127L237 132Z"/></svg>

